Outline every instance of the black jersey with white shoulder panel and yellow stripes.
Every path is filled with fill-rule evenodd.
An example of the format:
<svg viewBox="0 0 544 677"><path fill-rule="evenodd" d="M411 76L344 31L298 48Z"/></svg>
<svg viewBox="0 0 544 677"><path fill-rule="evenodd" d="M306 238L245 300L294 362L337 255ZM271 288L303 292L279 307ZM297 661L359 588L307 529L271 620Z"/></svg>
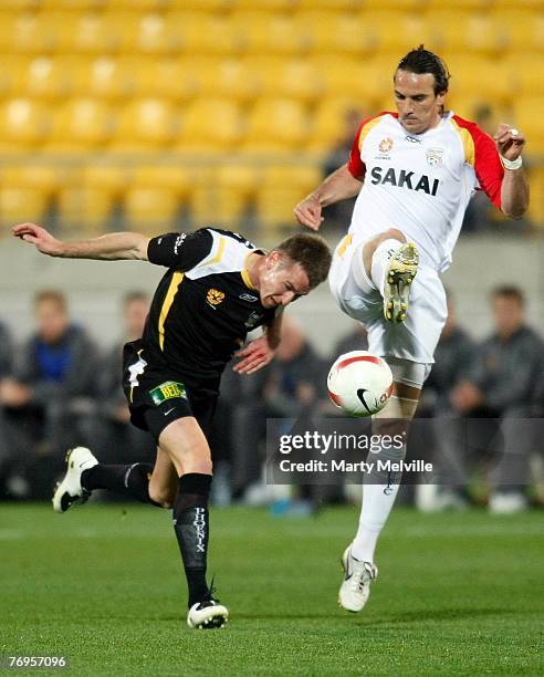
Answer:
<svg viewBox="0 0 544 677"><path fill-rule="evenodd" d="M219 377L248 332L274 317L245 268L255 251L242 236L216 228L150 240L149 261L169 269L144 330L154 362L186 379Z"/></svg>

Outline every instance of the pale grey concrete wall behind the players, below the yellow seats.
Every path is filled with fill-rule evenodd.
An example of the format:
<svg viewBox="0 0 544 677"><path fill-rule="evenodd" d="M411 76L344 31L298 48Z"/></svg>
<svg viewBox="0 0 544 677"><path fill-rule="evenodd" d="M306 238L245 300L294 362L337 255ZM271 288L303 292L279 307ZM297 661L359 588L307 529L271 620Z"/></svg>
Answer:
<svg viewBox="0 0 544 677"><path fill-rule="evenodd" d="M457 300L459 322L474 337L491 329L488 294L500 283L520 285L529 299L530 323L544 333L544 240L465 237L456 249L444 283ZM75 261L40 256L19 241L0 241L0 319L21 340L32 330L32 296L43 288L66 291L75 321L107 346L119 335L118 309L123 294L140 289L150 293L164 270L134 261ZM324 284L291 306L318 352L327 354L352 326Z"/></svg>

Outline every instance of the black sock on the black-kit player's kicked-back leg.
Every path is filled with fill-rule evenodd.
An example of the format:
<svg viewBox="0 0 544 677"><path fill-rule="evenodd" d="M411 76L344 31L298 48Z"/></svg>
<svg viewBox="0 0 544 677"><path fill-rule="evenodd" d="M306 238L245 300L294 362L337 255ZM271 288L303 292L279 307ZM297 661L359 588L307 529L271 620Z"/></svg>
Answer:
<svg viewBox="0 0 544 677"><path fill-rule="evenodd" d="M158 503L149 498L149 478L151 464L132 464L129 466L108 466L98 464L81 475L81 486L88 491L93 489L109 489L140 501L142 503Z"/></svg>

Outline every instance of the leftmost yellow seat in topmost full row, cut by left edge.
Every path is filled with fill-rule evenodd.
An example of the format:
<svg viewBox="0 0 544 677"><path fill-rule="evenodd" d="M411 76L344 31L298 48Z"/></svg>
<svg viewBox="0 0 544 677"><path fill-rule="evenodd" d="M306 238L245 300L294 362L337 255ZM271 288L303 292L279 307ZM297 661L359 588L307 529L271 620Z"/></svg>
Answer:
<svg viewBox="0 0 544 677"><path fill-rule="evenodd" d="M0 51L11 54L49 54L54 32L46 17L35 12L6 12L0 21Z"/></svg>

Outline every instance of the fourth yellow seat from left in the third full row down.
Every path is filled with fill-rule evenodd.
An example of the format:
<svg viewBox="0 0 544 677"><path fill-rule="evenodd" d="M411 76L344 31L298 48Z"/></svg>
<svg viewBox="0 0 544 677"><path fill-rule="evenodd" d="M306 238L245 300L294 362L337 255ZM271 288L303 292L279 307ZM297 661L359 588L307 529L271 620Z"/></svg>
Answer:
<svg viewBox="0 0 544 677"><path fill-rule="evenodd" d="M242 134L237 103L222 98L197 98L182 116L176 149L186 153L217 153L232 148Z"/></svg>

